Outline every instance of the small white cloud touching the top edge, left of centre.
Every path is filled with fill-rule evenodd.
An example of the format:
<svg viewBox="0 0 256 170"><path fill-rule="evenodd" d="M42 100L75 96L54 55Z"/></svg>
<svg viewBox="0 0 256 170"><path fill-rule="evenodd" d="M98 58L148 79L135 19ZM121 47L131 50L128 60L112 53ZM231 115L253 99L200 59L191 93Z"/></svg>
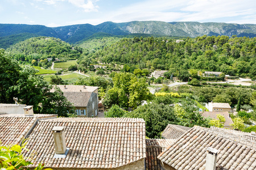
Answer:
<svg viewBox="0 0 256 170"><path fill-rule="evenodd" d="M85 12L92 12L92 11L97 12L98 11L97 10L98 6L94 5L94 2L96 2L96 1L88 0L85 3L85 0L68 0L68 2L76 7L83 8Z"/></svg>

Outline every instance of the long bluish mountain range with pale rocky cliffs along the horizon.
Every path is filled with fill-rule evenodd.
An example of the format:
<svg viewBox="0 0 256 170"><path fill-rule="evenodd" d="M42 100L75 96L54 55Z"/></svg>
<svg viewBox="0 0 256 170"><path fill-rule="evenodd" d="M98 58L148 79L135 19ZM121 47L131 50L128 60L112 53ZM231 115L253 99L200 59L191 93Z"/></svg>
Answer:
<svg viewBox="0 0 256 170"><path fill-rule="evenodd" d="M228 23L199 23L199 22L127 22L113 23L105 22L98 25L77 24L63 27L46 27L44 25L26 24L0 24L0 37L6 41L15 39L7 37L20 33L28 33L36 36L56 37L70 44L76 44L95 33L108 33L114 36L129 35L131 33L143 33L160 36L183 36L197 37L202 35L231 37L256 37L255 24L228 24ZM16 40L14 40L16 41ZM5 44L5 45L3 45ZM6 42L1 41L0 48L6 47Z"/></svg>

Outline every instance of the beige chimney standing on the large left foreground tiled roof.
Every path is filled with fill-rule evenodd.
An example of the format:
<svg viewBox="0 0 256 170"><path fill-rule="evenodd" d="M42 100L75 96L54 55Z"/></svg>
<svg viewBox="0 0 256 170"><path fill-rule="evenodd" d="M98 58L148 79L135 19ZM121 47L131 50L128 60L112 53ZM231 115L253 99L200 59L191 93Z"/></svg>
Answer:
<svg viewBox="0 0 256 170"><path fill-rule="evenodd" d="M64 126L53 126L52 133L53 133L54 144L55 144L55 153L65 154L67 146L66 146L66 140L65 140Z"/></svg>

